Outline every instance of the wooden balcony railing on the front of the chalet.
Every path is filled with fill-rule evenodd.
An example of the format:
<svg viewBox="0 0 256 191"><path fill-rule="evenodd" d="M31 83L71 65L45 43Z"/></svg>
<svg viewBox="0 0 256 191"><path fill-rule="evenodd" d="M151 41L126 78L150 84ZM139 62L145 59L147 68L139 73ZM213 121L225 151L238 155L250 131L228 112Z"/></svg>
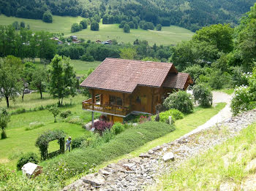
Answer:
<svg viewBox="0 0 256 191"><path fill-rule="evenodd" d="M101 104L93 104L92 99L88 99L83 101L83 109L96 111L96 112L104 112L109 114L118 114L121 116L127 116L129 114L129 108L122 106L105 106Z"/></svg>

